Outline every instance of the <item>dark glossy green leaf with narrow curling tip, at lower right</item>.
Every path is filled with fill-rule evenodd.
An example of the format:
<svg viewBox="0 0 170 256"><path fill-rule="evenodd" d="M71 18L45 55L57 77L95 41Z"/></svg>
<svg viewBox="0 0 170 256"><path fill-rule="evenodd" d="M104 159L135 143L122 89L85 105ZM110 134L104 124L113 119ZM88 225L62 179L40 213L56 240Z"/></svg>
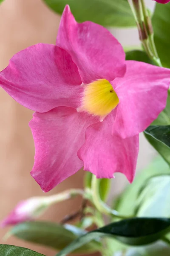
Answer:
<svg viewBox="0 0 170 256"><path fill-rule="evenodd" d="M105 227L91 231L74 240L56 256L65 256L93 239L113 236L130 245L149 244L161 239L170 231L167 218L130 218L113 222Z"/></svg>

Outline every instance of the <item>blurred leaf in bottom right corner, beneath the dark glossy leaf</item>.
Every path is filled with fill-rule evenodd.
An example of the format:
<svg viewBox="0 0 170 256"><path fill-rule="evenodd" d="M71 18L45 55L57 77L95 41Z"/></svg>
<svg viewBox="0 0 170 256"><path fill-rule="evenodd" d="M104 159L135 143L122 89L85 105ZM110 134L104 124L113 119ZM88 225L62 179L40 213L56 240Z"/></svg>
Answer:
<svg viewBox="0 0 170 256"><path fill-rule="evenodd" d="M140 248L131 248L127 250L124 256L168 256L170 255L170 246L164 242L157 242Z"/></svg>

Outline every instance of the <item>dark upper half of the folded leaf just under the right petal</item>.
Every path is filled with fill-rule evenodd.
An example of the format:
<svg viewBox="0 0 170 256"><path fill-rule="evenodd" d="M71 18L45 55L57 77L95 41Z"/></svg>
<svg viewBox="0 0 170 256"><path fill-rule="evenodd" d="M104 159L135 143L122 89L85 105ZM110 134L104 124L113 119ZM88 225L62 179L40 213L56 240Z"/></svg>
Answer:
<svg viewBox="0 0 170 256"><path fill-rule="evenodd" d="M170 125L150 125L144 133L170 148Z"/></svg>

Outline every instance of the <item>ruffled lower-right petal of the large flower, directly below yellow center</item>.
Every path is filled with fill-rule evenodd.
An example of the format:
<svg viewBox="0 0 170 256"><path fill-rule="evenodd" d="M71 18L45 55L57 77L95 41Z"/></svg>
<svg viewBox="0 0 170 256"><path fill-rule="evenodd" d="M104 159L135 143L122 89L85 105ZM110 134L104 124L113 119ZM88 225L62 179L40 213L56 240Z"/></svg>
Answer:
<svg viewBox="0 0 170 256"><path fill-rule="evenodd" d="M115 172L123 173L132 182L139 151L139 135L122 139L111 135L111 115L86 130L85 144L78 156L84 162L84 169L97 178L113 178Z"/></svg>

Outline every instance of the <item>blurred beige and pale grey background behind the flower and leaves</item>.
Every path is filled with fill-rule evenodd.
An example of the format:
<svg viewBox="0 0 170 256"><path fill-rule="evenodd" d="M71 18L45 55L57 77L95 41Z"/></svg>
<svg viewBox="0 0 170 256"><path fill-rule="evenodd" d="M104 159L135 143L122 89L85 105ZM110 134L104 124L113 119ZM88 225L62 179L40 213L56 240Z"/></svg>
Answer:
<svg viewBox="0 0 170 256"><path fill-rule="evenodd" d="M149 1L148 1L149 2ZM150 1L153 2L153 1ZM0 5L0 70L16 52L37 43L55 44L60 17L48 9L42 0L5 0ZM135 29L112 30L123 44L138 44ZM33 195L44 195L29 172L34 163L34 142L28 122L32 111L17 104L0 88L0 220L22 199ZM138 169L146 166L154 151L143 137L140 139ZM48 194L69 187L82 187L83 171L65 180ZM113 180L112 195L116 195L127 183L123 175ZM43 219L59 221L80 206L80 198L52 207ZM47 256L54 250L10 238L2 240L6 229L0 229L0 243L28 247Z"/></svg>

